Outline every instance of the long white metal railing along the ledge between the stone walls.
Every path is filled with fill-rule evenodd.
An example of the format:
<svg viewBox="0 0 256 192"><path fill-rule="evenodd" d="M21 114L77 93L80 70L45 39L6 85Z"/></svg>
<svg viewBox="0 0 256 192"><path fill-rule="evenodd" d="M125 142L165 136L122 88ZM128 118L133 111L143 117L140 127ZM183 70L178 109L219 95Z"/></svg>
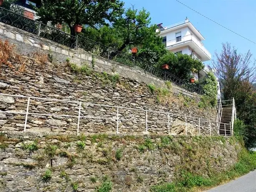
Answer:
<svg viewBox="0 0 256 192"><path fill-rule="evenodd" d="M117 124L116 124L116 126L117 126L116 133L117 134L119 134L119 130L120 130L119 123L122 122L122 121L144 122L145 123L145 134L148 134L148 123L166 124L167 125L167 129L168 129L166 131L168 132L168 134L170 134L170 126L171 125L182 125L182 126L185 126L185 133L186 134L188 134L188 127L192 126L192 127L196 127L198 129L198 135L202 135L202 131L206 131L208 135L215 135L213 133L213 131L216 131L216 133L217 133L217 130L214 130L214 128L212 127L212 124L214 124L214 122L217 123L217 124L221 124L221 122L219 122L219 121L212 121L212 120L209 120L209 119L203 119L203 118L198 118L198 117L188 116L188 115L171 114L170 112L163 112L163 111L152 111L152 110L135 109L135 108L129 108L129 107L122 107L122 106L111 106L111 105L103 105L103 104L93 104L93 103L86 103L86 102L81 102L81 101L69 101L69 100L60 100L60 99L51 99L51 98L40 98L40 97L33 97L33 96L10 95L10 94L3 94L3 93L0 93L0 95L1 96L10 96L10 97L18 97L18 98L28 99L27 104L26 104L26 112L22 112L22 111L0 111L0 113L6 113L6 114L23 114L23 115L25 115L24 131L26 131L27 122L28 122L28 115L61 116L61 117L77 118L78 119L78 122L77 122L77 134L79 133L80 119L83 119L83 118L86 118L86 119L105 119L105 120L116 121L117 122ZM67 102L67 103L71 103L71 104L79 104L79 111L78 111L77 115L30 113L29 112L29 106L30 106L30 100L31 99L45 100L45 101L56 101L56 102ZM84 115L81 114L81 107L82 107L82 105L91 105L91 106L115 108L115 109L117 109L117 114L116 114L115 117L112 117L112 118L95 117L95 116L84 116ZM122 118L120 119L119 118L119 116L120 116L119 110L120 109L136 110L136 111L144 112L145 113L145 119L144 120L122 119ZM158 114L164 114L164 115L166 115L168 121L150 121L148 119L148 113L149 112L158 113ZM173 117L183 117L183 119L185 119L185 124L175 123L174 121L171 121L170 120L171 116L173 116ZM197 123L195 123L195 124L188 124L187 123L187 119L188 118L197 119L198 124ZM207 128L203 127L200 121L209 122L209 126ZM191 123L191 121L190 121L190 123ZM225 125L225 128L222 129L222 130L225 131L225 133L226 133L226 126L229 126L229 124L224 124L224 125ZM219 132L217 134L219 134Z"/></svg>

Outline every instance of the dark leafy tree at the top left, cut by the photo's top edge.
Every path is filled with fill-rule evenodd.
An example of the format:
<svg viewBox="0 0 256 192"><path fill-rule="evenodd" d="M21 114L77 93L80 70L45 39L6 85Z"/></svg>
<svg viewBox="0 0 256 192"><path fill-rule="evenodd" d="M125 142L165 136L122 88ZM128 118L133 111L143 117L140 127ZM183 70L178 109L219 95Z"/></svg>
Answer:
<svg viewBox="0 0 256 192"><path fill-rule="evenodd" d="M43 23L66 23L75 35L76 24L95 28L113 22L123 13L123 5L120 0L43 0L36 11Z"/></svg>

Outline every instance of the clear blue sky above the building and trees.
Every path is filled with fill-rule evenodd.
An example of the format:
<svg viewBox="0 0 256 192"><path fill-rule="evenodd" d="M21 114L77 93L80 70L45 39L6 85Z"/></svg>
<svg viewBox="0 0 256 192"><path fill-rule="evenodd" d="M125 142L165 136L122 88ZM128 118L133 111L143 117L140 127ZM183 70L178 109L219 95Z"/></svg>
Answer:
<svg viewBox="0 0 256 192"><path fill-rule="evenodd" d="M125 7L145 8L150 12L151 23L163 23L164 26L178 23L188 17L190 22L200 30L205 40L205 47L215 58L215 51L221 52L221 43L229 42L238 48L238 53L253 54L251 66L256 59L256 44L245 40L222 28L212 21L186 8L176 0L123 0ZM180 0L185 5L215 20L238 34L256 42L256 0ZM212 61L205 62L210 64Z"/></svg>

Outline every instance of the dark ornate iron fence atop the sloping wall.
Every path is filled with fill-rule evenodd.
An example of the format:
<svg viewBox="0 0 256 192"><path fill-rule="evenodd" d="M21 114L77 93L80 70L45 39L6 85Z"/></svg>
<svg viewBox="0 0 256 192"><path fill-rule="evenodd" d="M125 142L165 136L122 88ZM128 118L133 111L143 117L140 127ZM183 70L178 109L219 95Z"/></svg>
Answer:
<svg viewBox="0 0 256 192"><path fill-rule="evenodd" d="M190 92L196 92L198 94L203 94L203 90L196 84L188 83L182 79L174 76L168 71L163 71L156 66L149 64L147 61L142 60L139 57L134 57L127 53L122 53L106 45L102 45L94 40L83 37L81 35L70 35L61 30L53 28L51 26L45 25L35 20L24 17L23 15L14 13L10 10L0 7L0 22L11 25L15 28L25 30L29 33L33 33L42 38L52 40L56 43L66 45L70 48L81 48L85 51L94 53L97 56L102 56L119 63L142 68L144 71L152 73L158 78L162 78L165 81L171 81L177 86L180 86Z"/></svg>

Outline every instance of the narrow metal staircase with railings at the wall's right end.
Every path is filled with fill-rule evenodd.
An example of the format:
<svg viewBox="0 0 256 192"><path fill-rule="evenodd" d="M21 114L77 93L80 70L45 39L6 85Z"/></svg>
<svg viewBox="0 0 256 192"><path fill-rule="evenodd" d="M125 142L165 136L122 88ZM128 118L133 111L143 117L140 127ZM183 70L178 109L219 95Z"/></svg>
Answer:
<svg viewBox="0 0 256 192"><path fill-rule="evenodd" d="M225 101L219 99L217 103L217 112L218 134L224 136L233 135L233 126L236 119L236 105L234 98Z"/></svg>

